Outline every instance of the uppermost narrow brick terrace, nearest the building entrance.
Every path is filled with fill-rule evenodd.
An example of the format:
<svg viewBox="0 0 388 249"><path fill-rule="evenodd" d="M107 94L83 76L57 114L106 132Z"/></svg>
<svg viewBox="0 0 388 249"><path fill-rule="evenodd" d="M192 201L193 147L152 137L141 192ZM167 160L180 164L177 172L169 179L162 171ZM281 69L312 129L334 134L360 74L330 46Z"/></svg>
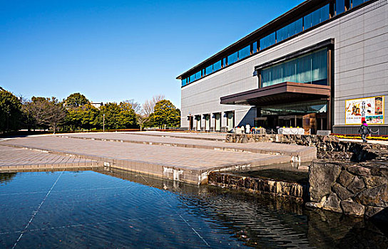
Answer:
<svg viewBox="0 0 388 249"><path fill-rule="evenodd" d="M255 152L262 154L285 154L299 157L301 161L316 159L317 149L315 147L304 147L295 144L280 144L271 142L257 142L247 144L233 144L220 141L187 139L180 137L165 137L171 132L158 132L158 136L144 135L146 132L131 133L85 133L85 134L64 134L63 137L76 137L86 139L112 140L115 142L131 142L140 144L170 145L175 147L190 147L199 149L220 149L237 152ZM156 133L155 133L156 134ZM206 134L203 134L205 136ZM215 134L220 136L220 134ZM224 134L225 136L225 134Z"/></svg>

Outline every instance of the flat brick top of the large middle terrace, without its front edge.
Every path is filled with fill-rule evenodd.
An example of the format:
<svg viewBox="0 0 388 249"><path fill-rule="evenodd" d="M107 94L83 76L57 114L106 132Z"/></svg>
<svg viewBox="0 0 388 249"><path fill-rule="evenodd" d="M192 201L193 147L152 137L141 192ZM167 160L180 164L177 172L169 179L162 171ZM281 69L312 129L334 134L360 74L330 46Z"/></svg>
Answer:
<svg viewBox="0 0 388 249"><path fill-rule="evenodd" d="M111 159L148 161L171 166L186 166L190 169L208 168L209 166L218 166L227 163L244 164L247 161L273 157L273 155L270 154L219 152L210 149L150 146L148 144L103 142L98 140L71 139L53 136L26 137L13 139L3 143L35 149L48 149L51 152L106 157Z"/></svg>

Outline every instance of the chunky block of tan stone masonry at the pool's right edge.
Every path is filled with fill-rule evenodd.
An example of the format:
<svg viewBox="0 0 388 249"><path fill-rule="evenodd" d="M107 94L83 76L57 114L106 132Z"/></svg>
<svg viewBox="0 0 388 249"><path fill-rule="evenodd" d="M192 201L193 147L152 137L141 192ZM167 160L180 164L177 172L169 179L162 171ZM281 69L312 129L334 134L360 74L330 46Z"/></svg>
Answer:
<svg viewBox="0 0 388 249"><path fill-rule="evenodd" d="M388 207L388 162L313 161L307 206L372 217Z"/></svg>

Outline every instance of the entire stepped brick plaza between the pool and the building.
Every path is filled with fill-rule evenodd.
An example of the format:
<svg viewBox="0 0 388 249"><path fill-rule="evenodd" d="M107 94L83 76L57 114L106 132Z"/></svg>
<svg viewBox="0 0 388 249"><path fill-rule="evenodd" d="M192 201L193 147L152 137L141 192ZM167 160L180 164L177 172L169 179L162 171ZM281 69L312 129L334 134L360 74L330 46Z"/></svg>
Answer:
<svg viewBox="0 0 388 249"><path fill-rule="evenodd" d="M20 137L0 142L0 151L2 171L17 169L17 165L20 169L26 165L39 169L40 165L50 164L89 164L195 184L205 183L209 171L281 164L292 161L295 155L305 159L312 154L315 157L315 148L297 145L229 144L165 133L156 136L118 132Z"/></svg>

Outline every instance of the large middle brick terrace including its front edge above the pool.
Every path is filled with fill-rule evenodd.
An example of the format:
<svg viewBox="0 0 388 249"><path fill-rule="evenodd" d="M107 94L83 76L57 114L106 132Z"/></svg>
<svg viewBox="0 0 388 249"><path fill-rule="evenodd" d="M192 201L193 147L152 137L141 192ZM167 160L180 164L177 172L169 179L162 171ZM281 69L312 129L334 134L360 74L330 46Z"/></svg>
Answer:
<svg viewBox="0 0 388 249"><path fill-rule="evenodd" d="M136 143L121 143L56 136L11 139L0 145L48 150L98 161L99 164L156 176L200 184L210 170L240 169L250 166L284 163L290 156L224 152ZM4 147L4 146L2 146ZM2 148L1 147L1 148ZM0 148L0 149L1 149Z"/></svg>

